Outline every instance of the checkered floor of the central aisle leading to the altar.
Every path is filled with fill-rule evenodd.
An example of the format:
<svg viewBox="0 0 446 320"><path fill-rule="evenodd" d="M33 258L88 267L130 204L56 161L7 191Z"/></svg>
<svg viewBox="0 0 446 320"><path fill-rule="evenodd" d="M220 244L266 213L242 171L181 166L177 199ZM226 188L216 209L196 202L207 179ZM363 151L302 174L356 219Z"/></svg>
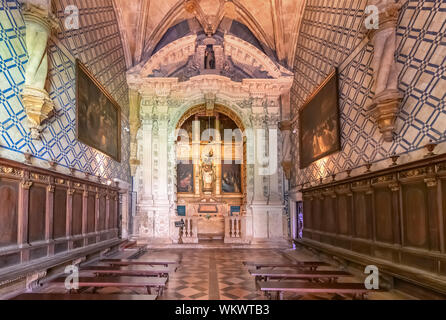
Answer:
<svg viewBox="0 0 446 320"><path fill-rule="evenodd" d="M164 251L154 250L146 256L165 257ZM169 250L170 256L181 261L177 272L170 276L162 299L186 300L257 300L253 278L242 265L249 259L284 259L272 250Z"/></svg>

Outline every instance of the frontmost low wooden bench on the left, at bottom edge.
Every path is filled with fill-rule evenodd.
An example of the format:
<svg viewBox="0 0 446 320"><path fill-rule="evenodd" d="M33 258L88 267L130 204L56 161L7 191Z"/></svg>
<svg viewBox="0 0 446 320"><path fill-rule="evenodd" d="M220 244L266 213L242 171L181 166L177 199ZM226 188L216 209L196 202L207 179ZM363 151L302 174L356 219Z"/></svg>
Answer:
<svg viewBox="0 0 446 320"><path fill-rule="evenodd" d="M158 296L148 294L66 294L24 293L11 300L156 300Z"/></svg>

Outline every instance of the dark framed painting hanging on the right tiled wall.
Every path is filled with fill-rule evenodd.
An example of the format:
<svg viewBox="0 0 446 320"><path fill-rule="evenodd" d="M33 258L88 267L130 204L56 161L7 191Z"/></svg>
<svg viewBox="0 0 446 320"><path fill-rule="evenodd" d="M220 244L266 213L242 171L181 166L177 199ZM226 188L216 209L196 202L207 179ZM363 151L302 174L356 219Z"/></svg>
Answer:
<svg viewBox="0 0 446 320"><path fill-rule="evenodd" d="M341 150L337 70L300 109L299 126L301 169Z"/></svg>

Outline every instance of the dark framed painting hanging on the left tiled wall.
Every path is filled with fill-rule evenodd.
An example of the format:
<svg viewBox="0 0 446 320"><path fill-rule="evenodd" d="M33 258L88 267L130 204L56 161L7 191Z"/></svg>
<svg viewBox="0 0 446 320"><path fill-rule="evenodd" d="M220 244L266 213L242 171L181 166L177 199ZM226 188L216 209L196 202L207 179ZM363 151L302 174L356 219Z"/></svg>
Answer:
<svg viewBox="0 0 446 320"><path fill-rule="evenodd" d="M76 103L78 140L121 162L121 108L79 60Z"/></svg>

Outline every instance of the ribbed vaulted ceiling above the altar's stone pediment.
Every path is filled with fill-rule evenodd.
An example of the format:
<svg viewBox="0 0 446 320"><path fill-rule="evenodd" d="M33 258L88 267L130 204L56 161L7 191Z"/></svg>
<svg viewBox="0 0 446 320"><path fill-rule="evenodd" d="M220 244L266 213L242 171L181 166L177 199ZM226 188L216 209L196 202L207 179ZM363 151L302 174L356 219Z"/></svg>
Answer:
<svg viewBox="0 0 446 320"><path fill-rule="evenodd" d="M292 67L305 0L114 0L127 67L149 57L167 30L196 19L213 34L221 22L244 24L265 51Z"/></svg>

